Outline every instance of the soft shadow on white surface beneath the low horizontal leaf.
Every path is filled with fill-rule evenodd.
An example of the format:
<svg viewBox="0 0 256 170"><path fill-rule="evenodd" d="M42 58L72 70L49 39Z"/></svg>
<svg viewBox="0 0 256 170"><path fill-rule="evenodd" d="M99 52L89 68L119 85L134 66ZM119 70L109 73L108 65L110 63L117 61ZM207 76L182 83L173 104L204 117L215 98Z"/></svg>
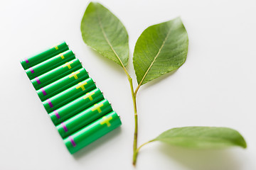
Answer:
<svg viewBox="0 0 256 170"><path fill-rule="evenodd" d="M235 157L233 149L185 149L161 144L159 150L192 170L242 170L242 160Z"/></svg>

